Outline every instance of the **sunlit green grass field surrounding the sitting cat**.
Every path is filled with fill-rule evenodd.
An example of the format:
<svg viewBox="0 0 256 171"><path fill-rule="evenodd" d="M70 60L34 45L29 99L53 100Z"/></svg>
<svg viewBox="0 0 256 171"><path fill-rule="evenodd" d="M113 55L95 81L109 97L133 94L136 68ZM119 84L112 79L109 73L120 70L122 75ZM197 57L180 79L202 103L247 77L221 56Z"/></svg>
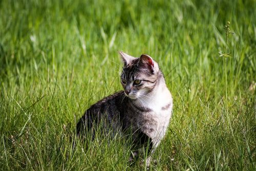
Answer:
<svg viewBox="0 0 256 171"><path fill-rule="evenodd" d="M0 0L0 170L146 169L126 162L124 139L73 138L83 112L121 90L118 50L151 55L173 95L150 169L256 170L255 16L253 0Z"/></svg>

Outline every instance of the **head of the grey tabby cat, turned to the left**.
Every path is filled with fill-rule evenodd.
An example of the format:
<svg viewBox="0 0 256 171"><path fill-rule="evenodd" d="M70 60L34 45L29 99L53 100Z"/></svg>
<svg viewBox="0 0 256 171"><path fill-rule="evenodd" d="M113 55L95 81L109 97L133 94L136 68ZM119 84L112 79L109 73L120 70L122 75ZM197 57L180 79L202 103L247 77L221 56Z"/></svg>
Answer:
<svg viewBox="0 0 256 171"><path fill-rule="evenodd" d="M137 58L123 52L119 53L124 63L121 84L125 95L131 99L148 96L158 83L158 63L146 54Z"/></svg>

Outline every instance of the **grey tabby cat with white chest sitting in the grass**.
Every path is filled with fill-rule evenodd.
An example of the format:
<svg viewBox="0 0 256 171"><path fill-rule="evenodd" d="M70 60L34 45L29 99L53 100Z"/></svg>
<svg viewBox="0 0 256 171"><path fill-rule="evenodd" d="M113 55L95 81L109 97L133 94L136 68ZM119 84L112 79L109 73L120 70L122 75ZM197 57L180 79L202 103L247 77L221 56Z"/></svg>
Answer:
<svg viewBox="0 0 256 171"><path fill-rule="evenodd" d="M172 95L158 63L151 56L142 54L137 58L119 53L124 65L120 76L124 90L93 104L77 123L77 135L80 137L84 130L92 130L93 124L99 123L105 114L105 125L123 132L131 129L133 142L141 146L149 141L150 153L153 154L169 125ZM138 153L135 151L133 157ZM147 165L151 156L146 159Z"/></svg>

